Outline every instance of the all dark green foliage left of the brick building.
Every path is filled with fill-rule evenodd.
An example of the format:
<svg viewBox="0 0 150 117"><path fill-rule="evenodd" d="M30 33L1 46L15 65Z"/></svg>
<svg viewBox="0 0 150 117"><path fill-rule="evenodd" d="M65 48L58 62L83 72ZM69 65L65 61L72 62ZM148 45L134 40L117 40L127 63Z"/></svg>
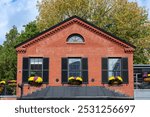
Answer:
<svg viewBox="0 0 150 117"><path fill-rule="evenodd" d="M0 80L16 79L17 54L14 46L39 33L35 21L24 28L21 34L15 26L6 33L6 41L0 46Z"/></svg>

